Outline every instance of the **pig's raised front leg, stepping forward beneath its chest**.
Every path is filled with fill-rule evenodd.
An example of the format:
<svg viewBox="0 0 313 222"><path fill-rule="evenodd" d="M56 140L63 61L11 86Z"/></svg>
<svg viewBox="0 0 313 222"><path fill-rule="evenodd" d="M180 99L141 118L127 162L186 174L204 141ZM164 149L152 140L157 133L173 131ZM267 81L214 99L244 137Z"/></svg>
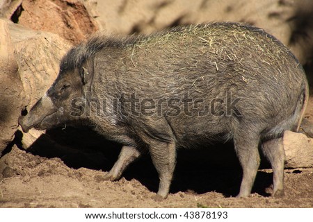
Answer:
<svg viewBox="0 0 313 222"><path fill-rule="evenodd" d="M141 156L141 151L133 146L123 146L118 156L118 160L115 162L109 173L104 175L104 180L118 180L122 176L123 171L127 168L131 162L134 162Z"/></svg>

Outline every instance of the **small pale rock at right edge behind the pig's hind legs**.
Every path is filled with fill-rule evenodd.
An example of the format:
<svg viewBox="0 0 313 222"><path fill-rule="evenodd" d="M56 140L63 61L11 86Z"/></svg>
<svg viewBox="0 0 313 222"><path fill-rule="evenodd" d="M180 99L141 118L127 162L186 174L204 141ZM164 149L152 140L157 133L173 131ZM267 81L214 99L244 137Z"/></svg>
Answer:
<svg viewBox="0 0 313 222"><path fill-rule="evenodd" d="M283 137L286 168L313 167L313 139L302 133L285 131Z"/></svg>

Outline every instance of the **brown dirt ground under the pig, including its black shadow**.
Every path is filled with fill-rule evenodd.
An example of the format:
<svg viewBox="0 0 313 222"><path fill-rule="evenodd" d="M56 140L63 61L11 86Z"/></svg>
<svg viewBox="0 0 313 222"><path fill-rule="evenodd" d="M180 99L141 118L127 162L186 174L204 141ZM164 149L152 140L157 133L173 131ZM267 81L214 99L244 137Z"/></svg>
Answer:
<svg viewBox="0 0 313 222"><path fill-rule="evenodd" d="M313 98L306 118L313 118ZM15 144L0 159L0 166L6 166L0 178L0 207L313 207L313 168L286 169L285 196L272 198L273 174L266 160L252 195L234 198L241 169L233 161L232 144L217 145L220 155L214 157L208 149L179 151L170 195L158 202L152 199L158 177L150 157L132 164L120 180L103 181L120 147L86 132L85 142L68 148L73 133L83 136L70 128L54 130L46 136L58 137L61 145L43 138L28 151L20 147L17 133Z"/></svg>

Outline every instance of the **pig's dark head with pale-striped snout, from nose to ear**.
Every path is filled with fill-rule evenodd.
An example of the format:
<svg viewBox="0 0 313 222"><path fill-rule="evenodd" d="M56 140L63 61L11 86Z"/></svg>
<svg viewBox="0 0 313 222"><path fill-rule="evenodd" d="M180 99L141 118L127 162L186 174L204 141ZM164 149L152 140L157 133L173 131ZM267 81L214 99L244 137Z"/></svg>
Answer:
<svg viewBox="0 0 313 222"><path fill-rule="evenodd" d="M24 132L31 128L45 130L64 126L82 118L77 114L77 110L72 112L72 103L77 99L83 101L85 92L90 87L88 80L92 67L88 66L86 60L83 62L77 60L73 56L73 51L67 53L61 61L58 77L45 95L35 103L26 116L19 117L19 124Z"/></svg>

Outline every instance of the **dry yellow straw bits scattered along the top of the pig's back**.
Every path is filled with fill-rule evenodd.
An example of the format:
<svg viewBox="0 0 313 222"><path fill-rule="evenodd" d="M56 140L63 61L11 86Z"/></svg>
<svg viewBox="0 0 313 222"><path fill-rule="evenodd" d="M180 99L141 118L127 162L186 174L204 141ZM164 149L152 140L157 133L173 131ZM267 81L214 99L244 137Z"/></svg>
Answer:
<svg viewBox="0 0 313 222"><path fill-rule="evenodd" d="M130 48L133 60L136 59L134 50L150 53L152 49L156 52L162 48L166 53L188 50L190 58L194 58L195 53L200 51L207 53L212 61L216 58L239 64L243 64L247 58L259 58L258 55L262 55L262 62L267 65L273 65L276 60L287 59L286 55L289 53L286 47L262 29L245 24L225 23L179 26L143 37Z"/></svg>

